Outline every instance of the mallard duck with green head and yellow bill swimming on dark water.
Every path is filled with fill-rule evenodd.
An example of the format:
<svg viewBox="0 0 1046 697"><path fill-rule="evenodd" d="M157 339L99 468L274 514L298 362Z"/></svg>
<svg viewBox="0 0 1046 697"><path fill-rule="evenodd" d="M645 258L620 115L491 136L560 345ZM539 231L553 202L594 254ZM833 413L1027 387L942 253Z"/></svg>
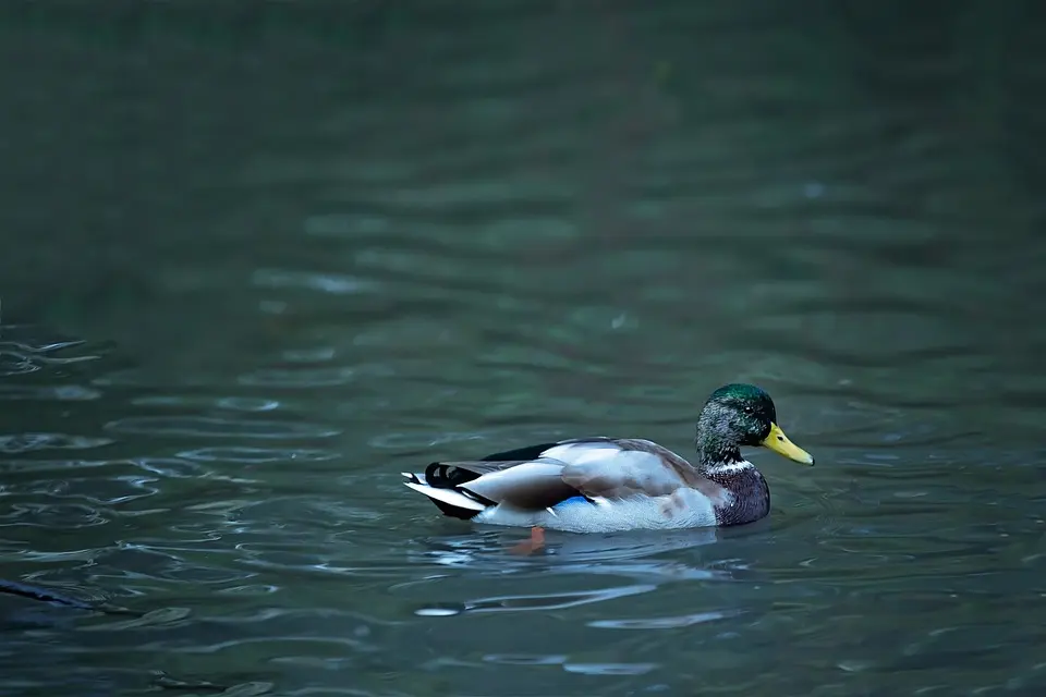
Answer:
<svg viewBox="0 0 1046 697"><path fill-rule="evenodd" d="M679 529L752 523L770 491L742 445L763 445L804 465L814 458L777 425L770 395L727 384L697 417L697 458L637 438L577 438L434 462L403 473L408 487L445 515L476 523L569 533Z"/></svg>

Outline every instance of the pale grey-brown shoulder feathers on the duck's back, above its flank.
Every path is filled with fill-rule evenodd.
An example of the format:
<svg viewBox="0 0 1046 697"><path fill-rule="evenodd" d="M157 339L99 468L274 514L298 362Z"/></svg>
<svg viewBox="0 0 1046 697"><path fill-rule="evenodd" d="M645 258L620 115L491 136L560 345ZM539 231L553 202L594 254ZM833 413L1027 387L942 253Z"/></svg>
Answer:
<svg viewBox="0 0 1046 697"><path fill-rule="evenodd" d="M545 456L565 463L563 481L593 500L656 498L681 488L695 489L714 504L728 497L723 487L702 476L684 458L638 438L563 441Z"/></svg>

